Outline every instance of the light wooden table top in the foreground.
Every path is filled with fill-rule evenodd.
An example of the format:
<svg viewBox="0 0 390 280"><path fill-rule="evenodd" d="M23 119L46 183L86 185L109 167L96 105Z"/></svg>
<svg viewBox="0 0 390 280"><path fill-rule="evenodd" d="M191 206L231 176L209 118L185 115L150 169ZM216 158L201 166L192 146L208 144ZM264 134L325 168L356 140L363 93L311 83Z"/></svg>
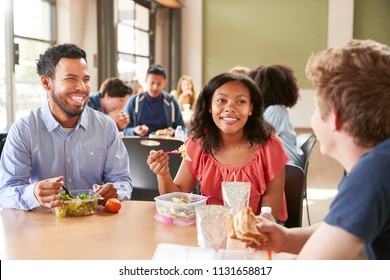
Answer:
<svg viewBox="0 0 390 280"><path fill-rule="evenodd" d="M47 208L0 211L1 259L152 259L158 243L197 246L196 226L154 219L155 202L123 201L117 214L57 218Z"/></svg>

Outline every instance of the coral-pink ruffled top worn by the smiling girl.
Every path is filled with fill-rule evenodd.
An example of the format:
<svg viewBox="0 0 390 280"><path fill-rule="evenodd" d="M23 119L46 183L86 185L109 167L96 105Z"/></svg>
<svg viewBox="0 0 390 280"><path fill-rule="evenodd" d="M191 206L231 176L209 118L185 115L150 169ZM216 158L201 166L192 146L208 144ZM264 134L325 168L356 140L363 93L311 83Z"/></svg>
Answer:
<svg viewBox="0 0 390 280"><path fill-rule="evenodd" d="M200 182L200 191L205 196L211 196L208 204L223 205L222 182L251 182L249 206L257 215L260 212L260 200L272 181L285 167L289 158L284 151L279 138L272 134L265 145L259 145L255 155L248 162L237 166L226 166L218 162L211 154L204 152L200 140L189 137L185 147L191 161L185 160L185 165ZM279 214L279 221L287 220L286 199Z"/></svg>

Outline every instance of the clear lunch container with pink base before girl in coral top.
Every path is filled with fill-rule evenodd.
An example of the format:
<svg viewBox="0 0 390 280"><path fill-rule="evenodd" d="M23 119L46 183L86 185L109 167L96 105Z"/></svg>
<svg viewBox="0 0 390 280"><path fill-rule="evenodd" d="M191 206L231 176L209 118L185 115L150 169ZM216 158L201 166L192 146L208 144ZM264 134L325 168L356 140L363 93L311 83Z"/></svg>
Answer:
<svg viewBox="0 0 390 280"><path fill-rule="evenodd" d="M195 223L195 208L205 205L207 197L192 193L173 192L154 198L156 220L166 224L190 225Z"/></svg>

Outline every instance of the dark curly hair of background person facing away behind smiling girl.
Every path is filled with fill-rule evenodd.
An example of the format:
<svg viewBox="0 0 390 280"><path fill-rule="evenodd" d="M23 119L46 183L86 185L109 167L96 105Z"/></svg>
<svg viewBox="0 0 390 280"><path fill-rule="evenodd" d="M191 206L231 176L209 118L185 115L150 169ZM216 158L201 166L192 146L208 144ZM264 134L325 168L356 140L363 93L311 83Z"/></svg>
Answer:
<svg viewBox="0 0 390 280"><path fill-rule="evenodd" d="M263 95L264 108L271 105L293 107L299 98L297 79L285 65L261 65L248 76L257 84Z"/></svg>

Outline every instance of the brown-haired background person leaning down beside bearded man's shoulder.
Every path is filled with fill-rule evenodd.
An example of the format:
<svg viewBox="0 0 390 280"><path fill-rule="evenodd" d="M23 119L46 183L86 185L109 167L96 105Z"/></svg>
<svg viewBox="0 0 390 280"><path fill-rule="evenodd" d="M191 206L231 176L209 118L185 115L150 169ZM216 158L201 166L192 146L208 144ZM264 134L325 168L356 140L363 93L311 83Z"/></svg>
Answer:
<svg viewBox="0 0 390 280"><path fill-rule="evenodd" d="M100 86L99 92L89 97L88 106L107 114L122 131L129 123L129 115L123 110L133 90L118 78L108 78Z"/></svg>

